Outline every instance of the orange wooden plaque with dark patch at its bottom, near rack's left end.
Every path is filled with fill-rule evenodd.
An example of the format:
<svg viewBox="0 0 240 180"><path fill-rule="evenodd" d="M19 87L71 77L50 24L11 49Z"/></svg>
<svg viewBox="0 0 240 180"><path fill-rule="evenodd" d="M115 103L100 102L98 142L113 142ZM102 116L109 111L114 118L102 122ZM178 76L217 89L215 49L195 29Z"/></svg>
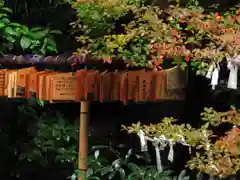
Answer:
<svg viewBox="0 0 240 180"><path fill-rule="evenodd" d="M36 73L37 70L34 67L30 67L30 68L24 68L24 69L20 69L17 71L17 92L16 92L16 96L17 97L26 97L27 96L27 90L28 89L28 78L29 75L32 73Z"/></svg>

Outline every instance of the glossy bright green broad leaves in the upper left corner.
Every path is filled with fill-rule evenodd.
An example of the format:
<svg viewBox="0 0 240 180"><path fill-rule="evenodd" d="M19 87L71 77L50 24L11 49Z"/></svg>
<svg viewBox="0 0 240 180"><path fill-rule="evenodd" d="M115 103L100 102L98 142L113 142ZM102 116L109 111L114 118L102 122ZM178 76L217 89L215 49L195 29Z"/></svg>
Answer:
<svg viewBox="0 0 240 180"><path fill-rule="evenodd" d="M11 21L9 16L11 9L1 6L0 11L0 51L2 54L57 52L54 35L60 34L60 31L42 27L28 28Z"/></svg>

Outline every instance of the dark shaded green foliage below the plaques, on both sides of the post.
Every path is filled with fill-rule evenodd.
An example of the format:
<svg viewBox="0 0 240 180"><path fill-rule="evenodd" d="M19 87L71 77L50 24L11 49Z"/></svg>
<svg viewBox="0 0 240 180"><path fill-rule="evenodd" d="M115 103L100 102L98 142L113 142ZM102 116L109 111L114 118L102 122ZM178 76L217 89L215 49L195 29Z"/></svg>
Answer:
<svg viewBox="0 0 240 180"><path fill-rule="evenodd" d="M38 106L37 106L38 107ZM78 127L63 115L36 113L36 106L26 104L19 108L23 117L33 117L34 122L25 123L28 141L21 141L17 149L18 164L28 162L39 164L45 171L57 163L69 166L68 176L81 176L78 170ZM26 116L27 115L27 116ZM33 121L33 119L31 119ZM89 137L91 141L91 136ZM134 153L133 149L123 153L110 145L95 145L89 147L88 171L86 179L122 179L122 180L188 180L186 171L177 175L170 169L159 173L156 166L151 164L150 155ZM22 178L23 170L16 168L16 176ZM27 171L25 169L25 171ZM67 178L67 177L66 177Z"/></svg>

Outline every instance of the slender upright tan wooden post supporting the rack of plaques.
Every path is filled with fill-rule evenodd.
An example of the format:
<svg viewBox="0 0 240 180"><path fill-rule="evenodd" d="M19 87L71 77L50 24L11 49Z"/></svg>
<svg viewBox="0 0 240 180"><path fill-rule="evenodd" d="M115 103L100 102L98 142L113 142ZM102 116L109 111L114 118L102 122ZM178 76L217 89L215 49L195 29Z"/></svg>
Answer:
<svg viewBox="0 0 240 180"><path fill-rule="evenodd" d="M81 101L78 154L78 169L80 170L80 175L78 177L78 180L86 179L88 158L88 110L89 102Z"/></svg>

